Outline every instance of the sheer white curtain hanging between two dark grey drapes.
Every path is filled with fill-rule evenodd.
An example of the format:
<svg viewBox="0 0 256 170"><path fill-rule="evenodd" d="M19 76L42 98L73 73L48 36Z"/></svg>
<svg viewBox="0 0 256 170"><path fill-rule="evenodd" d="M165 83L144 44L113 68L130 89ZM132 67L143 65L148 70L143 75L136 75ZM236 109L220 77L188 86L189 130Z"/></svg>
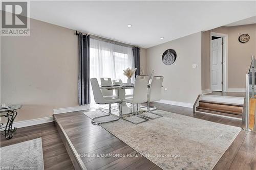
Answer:
<svg viewBox="0 0 256 170"><path fill-rule="evenodd" d="M132 47L90 38L90 78L97 78L99 84L101 77L126 83L123 70L127 67L134 68ZM94 103L92 92L91 103Z"/></svg>

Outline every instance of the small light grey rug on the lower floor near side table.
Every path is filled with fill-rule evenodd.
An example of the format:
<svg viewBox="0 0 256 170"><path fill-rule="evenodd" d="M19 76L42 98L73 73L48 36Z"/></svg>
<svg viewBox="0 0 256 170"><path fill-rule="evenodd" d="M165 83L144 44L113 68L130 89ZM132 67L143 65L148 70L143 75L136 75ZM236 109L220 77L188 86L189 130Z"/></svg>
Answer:
<svg viewBox="0 0 256 170"><path fill-rule="evenodd" d="M2 147L0 152L0 169L44 169L41 138Z"/></svg>

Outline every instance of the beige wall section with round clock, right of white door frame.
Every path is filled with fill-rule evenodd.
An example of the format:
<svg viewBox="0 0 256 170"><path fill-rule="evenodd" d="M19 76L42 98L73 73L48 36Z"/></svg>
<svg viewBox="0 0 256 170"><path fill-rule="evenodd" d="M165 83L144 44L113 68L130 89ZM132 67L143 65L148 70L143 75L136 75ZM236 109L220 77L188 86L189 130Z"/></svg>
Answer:
<svg viewBox="0 0 256 170"><path fill-rule="evenodd" d="M249 34L250 40L240 43L241 34ZM230 27L228 29L228 87L245 88L245 75L251 63L251 55L256 55L256 24Z"/></svg>

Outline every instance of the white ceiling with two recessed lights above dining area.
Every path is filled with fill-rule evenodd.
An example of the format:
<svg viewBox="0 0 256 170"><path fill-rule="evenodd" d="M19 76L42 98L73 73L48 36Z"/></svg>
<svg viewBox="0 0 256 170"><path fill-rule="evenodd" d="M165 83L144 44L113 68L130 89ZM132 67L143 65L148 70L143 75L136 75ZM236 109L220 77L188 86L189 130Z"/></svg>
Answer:
<svg viewBox="0 0 256 170"><path fill-rule="evenodd" d="M144 48L256 15L255 1L31 1L30 8L31 18Z"/></svg>

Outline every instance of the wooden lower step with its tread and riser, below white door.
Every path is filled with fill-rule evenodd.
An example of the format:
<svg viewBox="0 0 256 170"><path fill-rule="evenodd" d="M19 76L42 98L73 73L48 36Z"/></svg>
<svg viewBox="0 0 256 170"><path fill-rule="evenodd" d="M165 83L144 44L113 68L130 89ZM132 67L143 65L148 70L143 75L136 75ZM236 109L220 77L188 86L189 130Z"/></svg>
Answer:
<svg viewBox="0 0 256 170"><path fill-rule="evenodd" d="M216 101L199 101L197 111L241 118L243 105Z"/></svg>

